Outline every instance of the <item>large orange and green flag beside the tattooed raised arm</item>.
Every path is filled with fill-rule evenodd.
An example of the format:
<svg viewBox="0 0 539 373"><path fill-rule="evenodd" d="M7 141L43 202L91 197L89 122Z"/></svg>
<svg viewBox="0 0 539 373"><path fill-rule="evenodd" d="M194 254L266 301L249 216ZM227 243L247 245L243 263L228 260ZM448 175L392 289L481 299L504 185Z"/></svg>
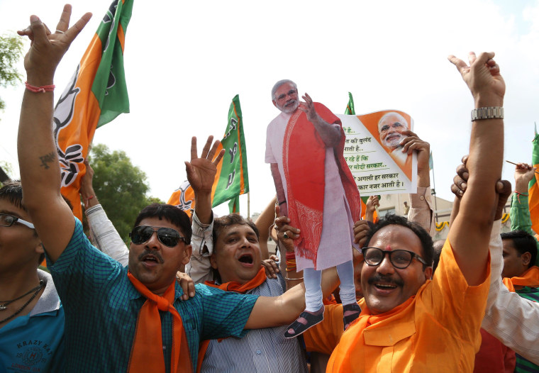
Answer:
<svg viewBox="0 0 539 373"><path fill-rule="evenodd" d="M133 0L114 0L67 84L54 113L62 194L82 220L80 182L96 128L129 112L123 48Z"/></svg>

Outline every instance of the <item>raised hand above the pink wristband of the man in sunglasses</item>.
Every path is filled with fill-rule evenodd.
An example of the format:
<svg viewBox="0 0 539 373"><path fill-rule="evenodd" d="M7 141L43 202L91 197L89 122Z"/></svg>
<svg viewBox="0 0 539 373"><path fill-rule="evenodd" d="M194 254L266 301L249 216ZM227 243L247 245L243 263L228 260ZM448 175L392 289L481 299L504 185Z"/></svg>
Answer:
<svg viewBox="0 0 539 373"><path fill-rule="evenodd" d="M18 35L28 36L32 42L30 50L24 57L24 68L28 74L35 73L35 77L52 79L57 65L62 60L71 43L82 31L91 18L86 13L73 26L70 26L71 6L66 4L56 26L55 33L51 33L45 23L38 16L30 16L30 26L17 31ZM41 82L28 82L41 84Z"/></svg>

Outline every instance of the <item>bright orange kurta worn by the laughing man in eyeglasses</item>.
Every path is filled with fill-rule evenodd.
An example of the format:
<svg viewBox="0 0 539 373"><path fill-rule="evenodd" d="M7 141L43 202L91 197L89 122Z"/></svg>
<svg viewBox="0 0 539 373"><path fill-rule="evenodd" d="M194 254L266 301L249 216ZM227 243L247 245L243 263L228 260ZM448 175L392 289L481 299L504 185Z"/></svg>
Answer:
<svg viewBox="0 0 539 373"><path fill-rule="evenodd" d="M472 372L489 293L487 265L484 282L468 286L446 241L433 281L416 296L377 316L362 300L360 318L350 328L326 330L326 340L318 343L321 352L328 351L330 340L338 343L327 372ZM312 333L320 333L315 328ZM308 348L318 350L309 333L307 341Z"/></svg>

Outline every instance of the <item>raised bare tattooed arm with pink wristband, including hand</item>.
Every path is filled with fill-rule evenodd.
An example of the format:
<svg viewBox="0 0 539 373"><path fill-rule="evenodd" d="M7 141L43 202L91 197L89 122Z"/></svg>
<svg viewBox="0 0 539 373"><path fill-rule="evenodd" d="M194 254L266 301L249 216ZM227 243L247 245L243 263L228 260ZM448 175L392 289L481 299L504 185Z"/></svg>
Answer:
<svg viewBox="0 0 539 373"><path fill-rule="evenodd" d="M37 16L30 16L30 26L18 31L32 40L24 57L28 84L34 87L54 84L57 65L88 23L91 13L84 14L68 28L70 16L71 6L66 5L55 33L50 33ZM17 148L24 204L54 262L72 237L74 217L60 195L60 165L52 137L53 101L52 91L24 91Z"/></svg>

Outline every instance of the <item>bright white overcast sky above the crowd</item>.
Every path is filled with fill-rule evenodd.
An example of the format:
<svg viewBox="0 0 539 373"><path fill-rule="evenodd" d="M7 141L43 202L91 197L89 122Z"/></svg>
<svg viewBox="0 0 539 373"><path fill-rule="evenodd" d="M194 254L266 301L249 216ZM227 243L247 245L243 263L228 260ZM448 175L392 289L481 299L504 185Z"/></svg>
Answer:
<svg viewBox="0 0 539 373"><path fill-rule="evenodd" d="M87 11L94 16L57 68L56 99L110 3L71 2L72 20ZM63 4L0 0L0 33L26 28L30 14L54 29ZM150 194L167 201L186 179L191 136L222 138L228 107L239 94L250 213L260 212L274 195L264 162L267 124L279 114L271 89L279 79L292 79L301 94L335 113L344 113L348 91L357 114L409 113L433 151L431 185L452 201L455 168L469 148L473 100L448 55L467 60L469 51L496 52L506 81L504 160L531 162L538 46L539 1L135 0L124 52L130 113L96 130L94 144L124 150L147 175ZM23 90L23 84L0 88L6 101L0 160L16 169L13 177ZM513 167L504 163L502 177L514 183ZM247 196L240 204L246 215ZM226 204L216 213L228 213Z"/></svg>

